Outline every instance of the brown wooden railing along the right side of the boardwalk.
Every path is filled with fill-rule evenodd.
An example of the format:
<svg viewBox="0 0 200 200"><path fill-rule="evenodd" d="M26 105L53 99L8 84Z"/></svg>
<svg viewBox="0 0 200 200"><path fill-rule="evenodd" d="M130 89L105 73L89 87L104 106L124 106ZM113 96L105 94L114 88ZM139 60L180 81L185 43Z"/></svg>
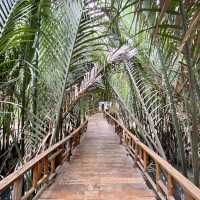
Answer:
<svg viewBox="0 0 200 200"><path fill-rule="evenodd" d="M109 122L114 124L115 131L120 137L120 143L127 146L131 157L161 199L200 200L200 189L198 187L166 160L143 144L108 112L105 112L105 116ZM150 176L148 172L150 163L154 163L154 176ZM181 189L182 192L175 193L175 187Z"/></svg>

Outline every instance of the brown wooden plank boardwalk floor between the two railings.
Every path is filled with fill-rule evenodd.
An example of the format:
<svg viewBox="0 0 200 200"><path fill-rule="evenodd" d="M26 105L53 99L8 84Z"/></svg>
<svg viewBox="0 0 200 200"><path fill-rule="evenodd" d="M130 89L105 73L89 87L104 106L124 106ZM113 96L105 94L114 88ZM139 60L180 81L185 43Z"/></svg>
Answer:
<svg viewBox="0 0 200 200"><path fill-rule="evenodd" d="M95 114L71 161L40 196L45 199L153 200L155 195L119 144L114 129L102 114Z"/></svg>

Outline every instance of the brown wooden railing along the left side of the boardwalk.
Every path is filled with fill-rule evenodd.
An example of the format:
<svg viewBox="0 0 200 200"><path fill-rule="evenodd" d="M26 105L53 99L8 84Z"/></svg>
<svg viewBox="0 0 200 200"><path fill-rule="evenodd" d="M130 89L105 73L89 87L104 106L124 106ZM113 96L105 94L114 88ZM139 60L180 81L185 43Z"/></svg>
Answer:
<svg viewBox="0 0 200 200"><path fill-rule="evenodd" d="M12 200L25 200L31 196L39 195L55 177L63 162L70 160L72 150L80 143L81 136L87 128L87 123L88 121L85 121L69 136L49 147L0 181L0 199L4 199L2 197L3 193L8 188L12 193ZM28 184L28 175L32 179L32 185L27 189L25 186Z"/></svg>

